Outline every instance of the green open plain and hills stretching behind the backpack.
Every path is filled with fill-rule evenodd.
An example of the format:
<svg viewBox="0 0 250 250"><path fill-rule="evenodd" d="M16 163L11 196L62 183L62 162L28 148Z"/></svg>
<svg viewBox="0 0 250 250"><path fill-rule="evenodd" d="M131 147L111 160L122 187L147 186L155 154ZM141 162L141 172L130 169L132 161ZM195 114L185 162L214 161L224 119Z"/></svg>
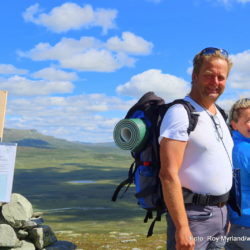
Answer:
<svg viewBox="0 0 250 250"><path fill-rule="evenodd" d="M33 139L32 145L30 139ZM112 144L68 142L34 130L8 129L4 141L28 142L17 149L13 192L24 195L35 211L42 211L45 223L54 231L73 231L78 234L74 242L80 245L80 239L86 234L89 234L89 244L91 238L100 238L97 240L100 247L107 240L117 241L119 237L112 238L112 232L137 235L137 242L144 243L138 243L141 249L147 249L145 244L150 246L150 239L157 241L157 246L161 239L160 245L164 245L164 218L156 223L155 238L146 240L150 221L143 223L145 211L136 204L134 187L128 189L123 199L111 201L116 185L127 177L132 161L128 152ZM39 146L34 145L35 142ZM83 180L92 183L71 183ZM59 233L59 237L67 240L71 236ZM136 247L135 243L129 244L127 249Z"/></svg>

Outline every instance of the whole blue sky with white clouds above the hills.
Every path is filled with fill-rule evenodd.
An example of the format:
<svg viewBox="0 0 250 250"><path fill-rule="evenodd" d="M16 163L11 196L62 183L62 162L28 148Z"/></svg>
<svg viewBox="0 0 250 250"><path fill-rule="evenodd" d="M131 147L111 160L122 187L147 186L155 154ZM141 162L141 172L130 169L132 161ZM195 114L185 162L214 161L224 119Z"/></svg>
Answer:
<svg viewBox="0 0 250 250"><path fill-rule="evenodd" d="M234 63L219 104L250 96L250 0L8 0L0 3L5 127L84 142L112 141L143 93L190 89L205 47Z"/></svg>

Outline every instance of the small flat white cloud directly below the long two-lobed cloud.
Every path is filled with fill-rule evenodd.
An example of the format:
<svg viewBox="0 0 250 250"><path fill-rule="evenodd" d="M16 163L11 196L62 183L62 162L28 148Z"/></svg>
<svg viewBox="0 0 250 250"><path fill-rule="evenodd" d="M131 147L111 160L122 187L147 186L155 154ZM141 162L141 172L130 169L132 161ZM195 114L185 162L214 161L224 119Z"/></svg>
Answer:
<svg viewBox="0 0 250 250"><path fill-rule="evenodd" d="M50 81L74 81L78 79L75 72L65 72L55 68L41 69L33 73L32 76Z"/></svg>

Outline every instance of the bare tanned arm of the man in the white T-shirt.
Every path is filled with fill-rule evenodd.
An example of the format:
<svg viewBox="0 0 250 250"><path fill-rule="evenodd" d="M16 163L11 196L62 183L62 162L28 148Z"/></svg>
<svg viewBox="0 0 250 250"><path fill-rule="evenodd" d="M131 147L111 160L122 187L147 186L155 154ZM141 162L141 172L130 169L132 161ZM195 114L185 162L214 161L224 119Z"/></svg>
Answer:
<svg viewBox="0 0 250 250"><path fill-rule="evenodd" d="M194 249L179 179L187 142L163 138L160 142L160 179L164 201L176 228L176 249Z"/></svg>

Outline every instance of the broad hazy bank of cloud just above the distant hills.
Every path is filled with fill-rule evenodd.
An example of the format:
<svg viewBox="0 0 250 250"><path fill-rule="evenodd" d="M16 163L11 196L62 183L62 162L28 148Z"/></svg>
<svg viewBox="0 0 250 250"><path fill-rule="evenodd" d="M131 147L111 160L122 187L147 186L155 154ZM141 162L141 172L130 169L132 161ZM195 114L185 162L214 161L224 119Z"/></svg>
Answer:
<svg viewBox="0 0 250 250"><path fill-rule="evenodd" d="M70 140L112 141L114 126L121 119L116 112L125 113L132 104L134 100L104 94L10 99L7 112L11 118L7 118L6 127L36 128Z"/></svg>

